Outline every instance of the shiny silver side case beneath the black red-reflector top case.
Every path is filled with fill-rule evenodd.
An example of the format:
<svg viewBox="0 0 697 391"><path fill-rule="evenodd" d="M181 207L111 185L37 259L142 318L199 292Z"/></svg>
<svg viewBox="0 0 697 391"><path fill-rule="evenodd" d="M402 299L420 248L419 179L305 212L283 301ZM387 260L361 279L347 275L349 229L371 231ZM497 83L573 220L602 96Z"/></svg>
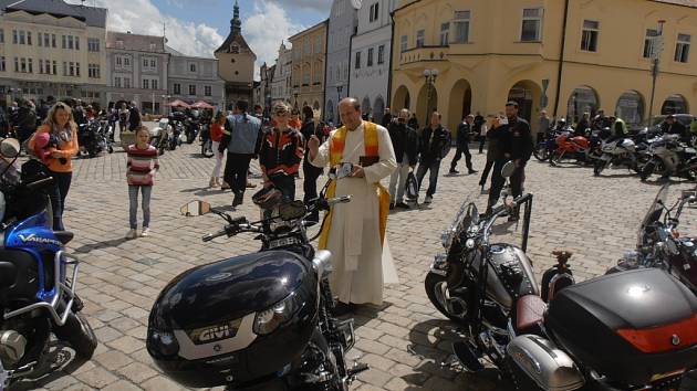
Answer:
<svg viewBox="0 0 697 391"><path fill-rule="evenodd" d="M518 336L508 344L506 352L543 390L571 391L585 383L571 357L542 337Z"/></svg>

